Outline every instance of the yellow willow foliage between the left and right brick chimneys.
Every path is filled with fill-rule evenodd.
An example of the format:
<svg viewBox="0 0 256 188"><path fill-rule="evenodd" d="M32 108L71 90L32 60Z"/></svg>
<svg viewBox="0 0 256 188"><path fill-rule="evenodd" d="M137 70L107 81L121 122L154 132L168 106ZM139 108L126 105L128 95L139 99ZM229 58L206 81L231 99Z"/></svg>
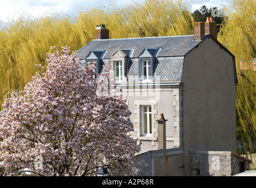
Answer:
<svg viewBox="0 0 256 188"><path fill-rule="evenodd" d="M151 0L115 9L112 38L192 35L193 18L185 1Z"/></svg>

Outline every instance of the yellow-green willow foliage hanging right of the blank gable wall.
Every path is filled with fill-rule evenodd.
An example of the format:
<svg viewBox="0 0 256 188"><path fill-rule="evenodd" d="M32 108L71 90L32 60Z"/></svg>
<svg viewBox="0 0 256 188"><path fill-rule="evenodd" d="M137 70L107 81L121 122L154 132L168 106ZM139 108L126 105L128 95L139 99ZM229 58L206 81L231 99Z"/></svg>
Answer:
<svg viewBox="0 0 256 188"><path fill-rule="evenodd" d="M256 1L235 0L225 9L218 40L231 51L237 63L237 137L250 143L256 134Z"/></svg>

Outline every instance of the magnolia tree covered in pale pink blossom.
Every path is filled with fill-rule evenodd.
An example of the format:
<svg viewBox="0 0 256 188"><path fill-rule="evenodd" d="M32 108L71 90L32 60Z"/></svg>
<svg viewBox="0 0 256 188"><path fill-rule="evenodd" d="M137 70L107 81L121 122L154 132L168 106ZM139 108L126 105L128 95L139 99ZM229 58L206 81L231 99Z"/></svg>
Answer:
<svg viewBox="0 0 256 188"><path fill-rule="evenodd" d="M37 73L3 104L4 175L28 170L39 176L90 176L102 165L110 173L132 170L140 146L129 136L133 124L126 99L109 84L110 63L99 79L94 63L81 66L67 47L54 48L47 62L45 73Z"/></svg>

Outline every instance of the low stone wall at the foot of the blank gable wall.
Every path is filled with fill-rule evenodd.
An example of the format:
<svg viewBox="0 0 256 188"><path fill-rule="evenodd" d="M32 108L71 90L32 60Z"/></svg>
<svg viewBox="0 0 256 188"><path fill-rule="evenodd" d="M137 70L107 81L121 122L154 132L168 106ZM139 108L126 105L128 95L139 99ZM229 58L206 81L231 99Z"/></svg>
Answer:
<svg viewBox="0 0 256 188"><path fill-rule="evenodd" d="M250 170L251 161L233 152L190 150L191 176L233 176Z"/></svg>

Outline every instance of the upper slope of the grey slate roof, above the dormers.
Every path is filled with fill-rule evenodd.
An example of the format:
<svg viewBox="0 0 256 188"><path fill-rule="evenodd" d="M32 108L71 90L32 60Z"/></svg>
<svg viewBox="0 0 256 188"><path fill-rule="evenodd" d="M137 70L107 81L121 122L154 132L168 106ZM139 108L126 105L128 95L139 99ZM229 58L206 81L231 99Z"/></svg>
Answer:
<svg viewBox="0 0 256 188"><path fill-rule="evenodd" d="M79 59L85 59L91 51L107 51L103 59L110 59L117 49L133 49L131 58L138 58L145 48L161 48L157 57L185 56L201 41L193 41L194 35L158 36L145 38L93 40L77 51Z"/></svg>

